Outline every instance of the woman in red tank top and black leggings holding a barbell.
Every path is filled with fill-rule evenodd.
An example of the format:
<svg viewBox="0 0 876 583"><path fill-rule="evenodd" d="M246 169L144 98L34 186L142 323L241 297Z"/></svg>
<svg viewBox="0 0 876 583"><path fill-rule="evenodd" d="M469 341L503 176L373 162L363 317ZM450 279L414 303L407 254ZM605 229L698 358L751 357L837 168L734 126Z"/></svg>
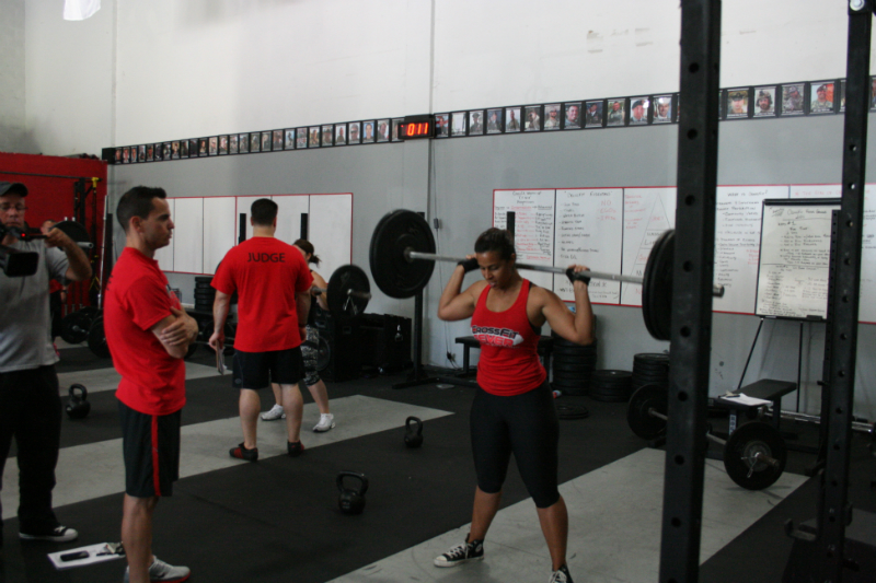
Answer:
<svg viewBox="0 0 876 583"><path fill-rule="evenodd" d="M482 559L483 540L499 508L502 486L514 453L527 491L538 509L542 533L553 563L551 583L570 583L566 565L568 512L557 489L560 423L548 373L539 361L540 328L546 322L563 338L592 342L592 308L587 278L575 279L573 314L550 290L523 279L517 270L514 241L507 231L488 229L453 270L441 294L438 317L472 318L481 342L477 392L471 409L471 439L477 487L472 526L465 543L437 559L453 567ZM468 271L481 269L483 280L465 291ZM584 266L572 266L575 272Z"/></svg>

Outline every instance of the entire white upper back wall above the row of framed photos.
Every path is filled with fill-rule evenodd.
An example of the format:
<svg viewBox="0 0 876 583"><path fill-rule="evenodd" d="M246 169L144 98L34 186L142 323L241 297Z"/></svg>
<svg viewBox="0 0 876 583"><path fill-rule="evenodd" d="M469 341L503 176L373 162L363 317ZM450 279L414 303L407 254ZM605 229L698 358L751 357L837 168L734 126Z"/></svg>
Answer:
<svg viewBox="0 0 876 583"><path fill-rule="evenodd" d="M79 23L2 2L26 5L27 130L53 154L678 90L678 0L105 0ZM722 86L843 77L844 5L726 0Z"/></svg>

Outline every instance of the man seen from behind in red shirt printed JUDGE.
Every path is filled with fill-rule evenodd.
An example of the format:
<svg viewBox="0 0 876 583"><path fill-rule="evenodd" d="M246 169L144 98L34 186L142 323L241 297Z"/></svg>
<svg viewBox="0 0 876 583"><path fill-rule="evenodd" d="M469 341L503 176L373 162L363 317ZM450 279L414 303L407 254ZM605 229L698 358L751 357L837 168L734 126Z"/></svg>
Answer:
<svg viewBox="0 0 876 583"><path fill-rule="evenodd" d="M277 203L267 198L253 202L250 222L253 237L226 254L212 287L214 334L210 346L224 346L229 300L238 292L238 330L234 335L234 374L240 389L240 422L243 443L232 447L231 457L258 459L256 427L262 400L257 390L280 385L286 411L287 453L301 455L301 416L304 401L298 382L304 376L301 340L310 312L310 275L304 256L274 236Z"/></svg>

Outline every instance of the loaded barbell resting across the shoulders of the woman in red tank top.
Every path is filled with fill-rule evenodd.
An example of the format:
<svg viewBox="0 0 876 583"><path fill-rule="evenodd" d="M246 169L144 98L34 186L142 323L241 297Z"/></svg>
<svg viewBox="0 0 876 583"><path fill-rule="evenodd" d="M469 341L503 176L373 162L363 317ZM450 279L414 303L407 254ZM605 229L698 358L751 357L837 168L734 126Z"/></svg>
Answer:
<svg viewBox="0 0 876 583"><path fill-rule="evenodd" d="M562 267L517 263L519 269L566 275L573 279L607 279L642 285L642 310L645 326L654 338L669 340L672 303L672 261L675 231L657 237L648 255L643 277L604 273L600 271L567 272ZM426 219L418 213L400 209L384 215L371 235L369 259L374 283L390 298L412 298L431 278L435 261L459 263L464 257L437 255L435 237ZM724 295L723 285L713 285L712 294Z"/></svg>

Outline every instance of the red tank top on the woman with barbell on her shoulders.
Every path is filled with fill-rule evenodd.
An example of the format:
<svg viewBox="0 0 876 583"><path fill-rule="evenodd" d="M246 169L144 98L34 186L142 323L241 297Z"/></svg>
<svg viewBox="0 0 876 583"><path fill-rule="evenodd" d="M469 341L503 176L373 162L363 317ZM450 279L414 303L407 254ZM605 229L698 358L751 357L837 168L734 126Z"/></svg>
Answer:
<svg viewBox="0 0 876 583"><path fill-rule="evenodd" d="M538 388L548 378L539 361L539 335L527 315L531 285L525 279L517 300L505 312L491 312L486 307L491 290L487 285L474 307L472 335L481 342L477 384L492 395L520 395Z"/></svg>

